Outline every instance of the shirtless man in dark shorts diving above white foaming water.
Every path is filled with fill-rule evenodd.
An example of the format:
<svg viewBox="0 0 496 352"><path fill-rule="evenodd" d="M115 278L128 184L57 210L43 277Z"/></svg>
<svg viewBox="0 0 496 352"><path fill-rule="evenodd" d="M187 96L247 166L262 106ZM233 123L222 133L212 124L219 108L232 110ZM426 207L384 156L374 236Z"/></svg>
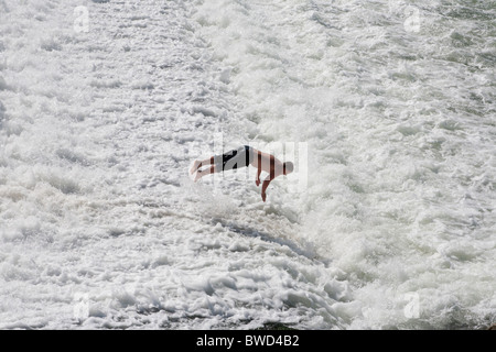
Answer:
<svg viewBox="0 0 496 352"><path fill-rule="evenodd" d="M260 185L260 174L266 172L269 176L262 183L261 197L266 201L267 187L278 176L288 175L293 172L294 165L291 162L281 162L276 156L260 152L249 145L242 145L237 150L224 153L222 155L213 155L204 161L195 161L190 169L190 174L195 175L195 182L206 175L220 173L228 169L248 167L249 165L258 169L255 184ZM206 168L201 169L202 167ZM208 167L209 166L209 167Z"/></svg>

